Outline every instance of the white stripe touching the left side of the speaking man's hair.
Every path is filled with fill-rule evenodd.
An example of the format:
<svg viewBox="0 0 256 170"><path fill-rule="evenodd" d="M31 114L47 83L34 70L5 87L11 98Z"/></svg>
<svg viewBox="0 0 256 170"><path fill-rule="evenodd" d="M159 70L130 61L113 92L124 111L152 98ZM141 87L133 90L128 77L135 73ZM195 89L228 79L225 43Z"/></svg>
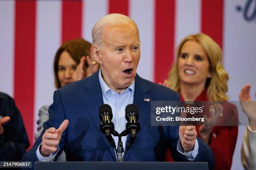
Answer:
<svg viewBox="0 0 256 170"><path fill-rule="evenodd" d="M92 42L92 28L103 16L108 14L108 0L84 0L82 12L82 37Z"/></svg>

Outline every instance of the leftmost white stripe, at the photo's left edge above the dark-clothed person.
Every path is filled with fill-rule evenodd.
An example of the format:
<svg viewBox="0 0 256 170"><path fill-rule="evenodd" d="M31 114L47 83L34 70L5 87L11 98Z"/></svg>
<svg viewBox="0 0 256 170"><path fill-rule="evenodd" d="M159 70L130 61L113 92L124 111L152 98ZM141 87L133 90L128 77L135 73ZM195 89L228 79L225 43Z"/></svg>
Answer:
<svg viewBox="0 0 256 170"><path fill-rule="evenodd" d="M13 96L14 1L0 1L0 91Z"/></svg>

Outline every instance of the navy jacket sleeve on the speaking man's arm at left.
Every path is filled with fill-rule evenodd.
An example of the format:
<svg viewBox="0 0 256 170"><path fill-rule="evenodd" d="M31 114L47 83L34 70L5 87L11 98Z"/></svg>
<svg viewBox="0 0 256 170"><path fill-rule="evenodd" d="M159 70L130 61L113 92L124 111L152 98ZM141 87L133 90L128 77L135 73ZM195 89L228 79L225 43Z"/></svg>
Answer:
<svg viewBox="0 0 256 170"><path fill-rule="evenodd" d="M61 97L59 95L58 90L54 92L54 102L53 104L49 107L49 120L44 122L44 130L42 131L41 135L39 138L36 140L34 143L33 147L28 150L28 152L24 155L23 161L32 161L32 166L34 167L35 161L38 161L38 158L36 156L36 150L39 147L39 145L42 142L42 136L45 133L45 130L54 127L54 128L59 128L59 125L66 119L65 113L64 113L64 107L62 105ZM64 130L62 133L62 137L59 143L59 152L57 153L57 156L54 158L56 161L58 156L62 153L62 150L64 148L64 145L66 143L66 137L67 135L67 129Z"/></svg>

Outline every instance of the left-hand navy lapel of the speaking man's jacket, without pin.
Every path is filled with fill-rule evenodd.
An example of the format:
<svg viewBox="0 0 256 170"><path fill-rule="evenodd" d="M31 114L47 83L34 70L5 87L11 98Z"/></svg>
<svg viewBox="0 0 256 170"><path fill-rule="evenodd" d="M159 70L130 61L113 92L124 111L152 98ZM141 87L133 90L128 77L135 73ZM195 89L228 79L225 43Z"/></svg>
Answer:
<svg viewBox="0 0 256 170"><path fill-rule="evenodd" d="M100 118L99 118L99 107L103 104L102 99L102 91L100 87L99 81L99 71L97 71L92 77L88 78L86 81L84 92L82 93L84 104L86 105L89 113L92 117L92 120L97 127L98 133L100 134L101 138L104 140L105 144L108 147L113 160L116 160L114 148L110 145L105 135L100 132Z"/></svg>

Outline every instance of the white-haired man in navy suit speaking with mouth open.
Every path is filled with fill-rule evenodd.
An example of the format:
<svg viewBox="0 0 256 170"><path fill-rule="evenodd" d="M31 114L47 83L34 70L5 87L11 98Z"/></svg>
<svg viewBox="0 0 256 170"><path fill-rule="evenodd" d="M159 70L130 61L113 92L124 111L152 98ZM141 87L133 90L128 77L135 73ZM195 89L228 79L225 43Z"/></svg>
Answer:
<svg viewBox="0 0 256 170"><path fill-rule="evenodd" d="M125 129L125 106L134 103L141 130L124 161L164 161L169 148L175 161L205 161L212 169L213 153L196 138L195 126L151 126L151 101L179 101L179 95L136 74L140 40L134 21L125 15L106 15L95 24L92 40L101 69L54 92L49 120L23 160L56 160L64 150L67 161L116 161L114 148L100 132L98 109L103 103L112 107L120 133ZM124 145L128 138L122 138Z"/></svg>

